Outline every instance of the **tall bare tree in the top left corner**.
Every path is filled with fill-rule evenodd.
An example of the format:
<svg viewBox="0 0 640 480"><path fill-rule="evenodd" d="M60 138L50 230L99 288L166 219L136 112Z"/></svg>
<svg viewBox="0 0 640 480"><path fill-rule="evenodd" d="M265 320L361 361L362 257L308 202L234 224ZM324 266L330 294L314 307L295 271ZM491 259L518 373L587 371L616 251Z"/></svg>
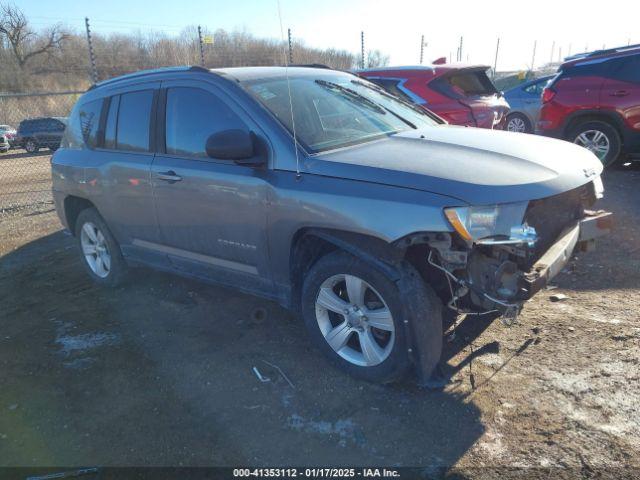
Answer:
<svg viewBox="0 0 640 480"><path fill-rule="evenodd" d="M31 58L60 48L69 34L58 24L37 35L29 28L22 10L15 5L0 4L0 36L6 37L13 56L22 69Z"/></svg>

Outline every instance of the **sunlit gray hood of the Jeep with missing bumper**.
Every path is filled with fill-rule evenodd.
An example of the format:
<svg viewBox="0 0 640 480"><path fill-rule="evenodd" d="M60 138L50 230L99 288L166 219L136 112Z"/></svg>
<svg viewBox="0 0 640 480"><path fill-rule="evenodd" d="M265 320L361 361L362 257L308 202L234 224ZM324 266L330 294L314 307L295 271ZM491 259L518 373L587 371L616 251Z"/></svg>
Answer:
<svg viewBox="0 0 640 480"><path fill-rule="evenodd" d="M440 125L315 155L307 171L487 205L577 188L599 175L602 163L563 140Z"/></svg>

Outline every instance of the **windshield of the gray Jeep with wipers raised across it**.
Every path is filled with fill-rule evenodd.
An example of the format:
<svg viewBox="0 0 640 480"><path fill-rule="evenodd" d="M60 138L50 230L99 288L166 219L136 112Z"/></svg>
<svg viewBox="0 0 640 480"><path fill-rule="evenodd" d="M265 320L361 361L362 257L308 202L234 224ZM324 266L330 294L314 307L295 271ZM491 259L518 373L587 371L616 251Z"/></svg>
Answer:
<svg viewBox="0 0 640 480"><path fill-rule="evenodd" d="M282 124L293 131L291 110L300 143L312 153L437 125L423 111L348 75L295 77L253 81L249 92Z"/></svg>

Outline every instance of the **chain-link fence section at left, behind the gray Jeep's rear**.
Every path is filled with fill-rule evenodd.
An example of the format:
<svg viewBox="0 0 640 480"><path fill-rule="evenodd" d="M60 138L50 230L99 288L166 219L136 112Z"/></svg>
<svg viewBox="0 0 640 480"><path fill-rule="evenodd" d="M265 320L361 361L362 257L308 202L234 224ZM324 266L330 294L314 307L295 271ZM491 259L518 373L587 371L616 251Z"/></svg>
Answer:
<svg viewBox="0 0 640 480"><path fill-rule="evenodd" d="M0 151L0 213L52 201L49 158L59 145L61 122L82 93L0 93L0 136L10 146ZM16 135L25 120L23 135Z"/></svg>

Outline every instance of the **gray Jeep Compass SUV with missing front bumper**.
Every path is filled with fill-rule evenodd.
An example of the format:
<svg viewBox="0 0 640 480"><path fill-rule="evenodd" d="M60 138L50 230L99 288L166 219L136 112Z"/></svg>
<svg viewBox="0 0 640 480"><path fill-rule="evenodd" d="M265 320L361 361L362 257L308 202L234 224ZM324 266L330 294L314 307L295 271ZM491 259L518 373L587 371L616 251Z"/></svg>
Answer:
<svg viewBox="0 0 640 480"><path fill-rule="evenodd" d="M299 313L349 373L426 381L443 311L513 319L609 229L601 162L571 143L449 126L323 68L170 68L108 80L52 159L89 276L128 265Z"/></svg>

